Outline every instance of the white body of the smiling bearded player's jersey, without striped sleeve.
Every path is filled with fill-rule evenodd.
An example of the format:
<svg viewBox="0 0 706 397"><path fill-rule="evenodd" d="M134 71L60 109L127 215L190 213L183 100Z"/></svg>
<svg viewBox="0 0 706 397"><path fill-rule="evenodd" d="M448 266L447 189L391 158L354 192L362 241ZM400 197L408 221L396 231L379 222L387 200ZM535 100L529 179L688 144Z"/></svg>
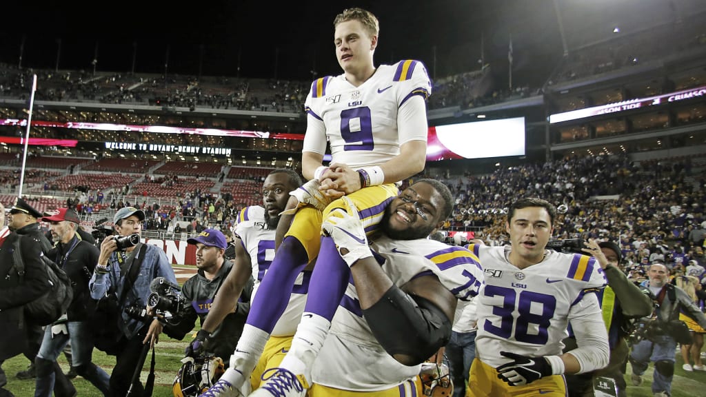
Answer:
<svg viewBox="0 0 706 397"><path fill-rule="evenodd" d="M377 254L376 259L398 287L418 275L436 271L431 261L416 254L385 253ZM314 383L349 391L380 391L415 377L420 367L402 365L385 352L363 318L351 279L314 361Z"/></svg>

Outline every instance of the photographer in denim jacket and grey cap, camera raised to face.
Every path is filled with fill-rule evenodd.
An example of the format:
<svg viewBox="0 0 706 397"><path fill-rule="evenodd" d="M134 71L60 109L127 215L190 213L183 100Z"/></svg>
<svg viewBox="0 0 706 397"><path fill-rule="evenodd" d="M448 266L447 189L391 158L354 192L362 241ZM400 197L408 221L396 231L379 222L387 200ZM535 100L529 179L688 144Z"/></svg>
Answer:
<svg viewBox="0 0 706 397"><path fill-rule="evenodd" d="M115 319L123 336L118 342L115 367L110 376L113 396L126 395L135 369L143 365L140 357L144 345L150 343L150 346L154 346L163 329L158 319L136 319L126 313L126 309L146 307L151 292L150 283L157 277L164 277L169 283L177 284L174 270L164 251L154 245L139 242L144 220L145 213L134 207L120 208L115 213L113 222L117 233L101 242L98 264L89 283L91 297L95 300L106 296L110 290L121 296L126 285L130 286L121 302L121 316ZM133 266L136 268L131 271ZM135 396L141 396L143 390L141 384L136 384L132 389Z"/></svg>

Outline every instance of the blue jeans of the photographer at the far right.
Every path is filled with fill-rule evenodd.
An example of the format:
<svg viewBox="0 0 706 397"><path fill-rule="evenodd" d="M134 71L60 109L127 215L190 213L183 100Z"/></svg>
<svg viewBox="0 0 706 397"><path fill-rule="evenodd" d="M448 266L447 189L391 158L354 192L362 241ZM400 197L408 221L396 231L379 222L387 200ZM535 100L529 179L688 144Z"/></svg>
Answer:
<svg viewBox="0 0 706 397"><path fill-rule="evenodd" d="M650 365L650 361L655 362L652 381L652 393L666 391L671 396L671 380L674 378L674 360L676 357L676 340L670 336L657 336L655 341L643 339L633 345L630 352L630 364L633 366L633 374L642 375ZM657 362L668 366L671 364L672 375L666 376L659 372Z"/></svg>

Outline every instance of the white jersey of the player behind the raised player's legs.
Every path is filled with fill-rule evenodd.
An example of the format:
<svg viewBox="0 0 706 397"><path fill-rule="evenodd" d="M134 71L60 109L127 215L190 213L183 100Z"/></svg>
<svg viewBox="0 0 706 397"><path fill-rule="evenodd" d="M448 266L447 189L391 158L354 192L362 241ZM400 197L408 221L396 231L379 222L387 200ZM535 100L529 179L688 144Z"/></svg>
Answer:
<svg viewBox="0 0 706 397"><path fill-rule="evenodd" d="M238 214L235 234L241 239L243 247L250 255L253 279L255 279L252 302L260 287L260 282L275 259L275 230L270 230L265 220L265 208L249 206L243 208ZM297 275L294 289L289 296L289 304L275 324L273 336L293 336L297 331L297 324L299 324L301 314L304 312L310 279L311 272L309 271Z"/></svg>

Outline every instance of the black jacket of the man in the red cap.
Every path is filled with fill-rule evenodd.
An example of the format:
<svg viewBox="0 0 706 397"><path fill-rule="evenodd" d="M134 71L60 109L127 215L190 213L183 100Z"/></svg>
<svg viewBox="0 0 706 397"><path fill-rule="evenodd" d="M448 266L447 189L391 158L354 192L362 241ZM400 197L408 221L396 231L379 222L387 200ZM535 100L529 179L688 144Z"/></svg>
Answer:
<svg viewBox="0 0 706 397"><path fill-rule="evenodd" d="M100 251L98 247L76 235L67 244L56 243L47 257L63 268L68 278L71 278L73 300L68 306L68 321L83 321L95 309L95 301L90 297L88 281L90 281Z"/></svg>

